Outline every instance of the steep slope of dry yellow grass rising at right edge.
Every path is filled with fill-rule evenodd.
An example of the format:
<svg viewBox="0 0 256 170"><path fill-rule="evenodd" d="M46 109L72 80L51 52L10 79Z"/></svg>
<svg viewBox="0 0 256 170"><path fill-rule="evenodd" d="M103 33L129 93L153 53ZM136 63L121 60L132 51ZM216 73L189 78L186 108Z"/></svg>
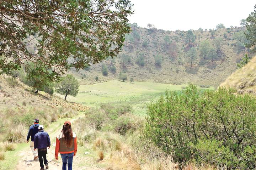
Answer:
<svg viewBox="0 0 256 170"><path fill-rule="evenodd" d="M231 74L220 87L233 87L238 94L256 95L256 56L248 64Z"/></svg>

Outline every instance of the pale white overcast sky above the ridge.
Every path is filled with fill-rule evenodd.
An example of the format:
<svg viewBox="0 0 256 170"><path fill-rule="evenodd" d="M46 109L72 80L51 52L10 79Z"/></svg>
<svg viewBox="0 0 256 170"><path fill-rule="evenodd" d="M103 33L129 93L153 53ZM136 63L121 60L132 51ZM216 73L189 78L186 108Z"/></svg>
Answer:
<svg viewBox="0 0 256 170"><path fill-rule="evenodd" d="M130 0L134 14L128 19L140 27L189 30L239 26L254 11L255 0Z"/></svg>

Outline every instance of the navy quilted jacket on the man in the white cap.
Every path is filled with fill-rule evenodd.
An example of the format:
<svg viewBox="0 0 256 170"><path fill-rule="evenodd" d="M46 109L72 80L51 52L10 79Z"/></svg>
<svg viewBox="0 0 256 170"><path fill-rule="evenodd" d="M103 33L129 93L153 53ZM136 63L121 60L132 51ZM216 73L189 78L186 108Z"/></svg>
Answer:
<svg viewBox="0 0 256 170"><path fill-rule="evenodd" d="M34 149L44 149L50 146L50 137L47 132L39 130L34 136Z"/></svg>

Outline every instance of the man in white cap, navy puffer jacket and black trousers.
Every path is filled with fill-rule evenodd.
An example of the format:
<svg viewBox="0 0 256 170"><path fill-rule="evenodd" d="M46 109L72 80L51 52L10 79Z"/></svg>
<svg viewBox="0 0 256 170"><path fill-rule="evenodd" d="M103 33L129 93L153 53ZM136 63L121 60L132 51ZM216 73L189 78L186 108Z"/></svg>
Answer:
<svg viewBox="0 0 256 170"><path fill-rule="evenodd" d="M40 170L44 170L44 165L46 169L49 168L48 161L46 159L47 147L50 148L50 137L47 132L43 130L43 125L39 125L39 132L34 136L34 151L38 152L38 158L40 162ZM44 165L43 165L44 163Z"/></svg>

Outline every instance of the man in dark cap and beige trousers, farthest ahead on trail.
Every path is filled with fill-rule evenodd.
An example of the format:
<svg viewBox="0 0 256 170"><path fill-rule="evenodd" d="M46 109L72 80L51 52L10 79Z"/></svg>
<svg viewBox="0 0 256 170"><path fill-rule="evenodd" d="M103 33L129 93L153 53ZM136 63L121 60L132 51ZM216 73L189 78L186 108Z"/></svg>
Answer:
<svg viewBox="0 0 256 170"><path fill-rule="evenodd" d="M30 148L34 155L34 160L38 159L37 152L34 151L34 135L36 135L37 132L39 131L38 126L39 126L39 119L34 119L34 124L30 126L30 129L28 130L28 135L27 135L27 143L31 136Z"/></svg>

